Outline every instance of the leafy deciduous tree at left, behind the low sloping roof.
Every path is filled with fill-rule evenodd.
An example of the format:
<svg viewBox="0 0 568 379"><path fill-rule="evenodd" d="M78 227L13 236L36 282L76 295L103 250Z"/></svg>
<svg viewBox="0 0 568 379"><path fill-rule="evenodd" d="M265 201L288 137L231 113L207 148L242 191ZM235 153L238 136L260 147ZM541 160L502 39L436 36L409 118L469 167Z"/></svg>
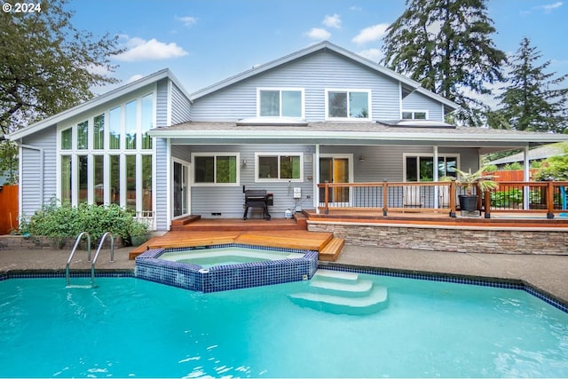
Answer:
<svg viewBox="0 0 568 379"><path fill-rule="evenodd" d="M117 36L100 39L71 24L66 0L37 2L35 12L0 12L0 128L4 133L91 99L116 82L109 57Z"/></svg>

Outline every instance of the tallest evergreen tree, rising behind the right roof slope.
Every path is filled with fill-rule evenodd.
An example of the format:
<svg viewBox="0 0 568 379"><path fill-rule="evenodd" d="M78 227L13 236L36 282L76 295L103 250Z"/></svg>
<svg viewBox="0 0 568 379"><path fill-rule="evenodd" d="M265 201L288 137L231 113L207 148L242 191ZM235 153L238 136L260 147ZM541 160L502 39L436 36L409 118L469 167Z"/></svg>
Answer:
<svg viewBox="0 0 568 379"><path fill-rule="evenodd" d="M478 126L486 107L477 95L491 93L506 61L493 33L485 0L406 0L383 39L383 64L453 100L456 120Z"/></svg>

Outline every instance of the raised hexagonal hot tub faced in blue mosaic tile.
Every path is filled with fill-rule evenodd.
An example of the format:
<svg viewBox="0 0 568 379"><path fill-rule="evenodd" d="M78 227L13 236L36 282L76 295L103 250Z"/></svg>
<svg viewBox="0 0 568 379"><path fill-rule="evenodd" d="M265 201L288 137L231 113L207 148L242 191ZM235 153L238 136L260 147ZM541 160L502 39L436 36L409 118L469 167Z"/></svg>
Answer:
<svg viewBox="0 0 568 379"><path fill-rule="evenodd" d="M136 277L201 292L308 280L318 252L237 243L153 249L136 258Z"/></svg>

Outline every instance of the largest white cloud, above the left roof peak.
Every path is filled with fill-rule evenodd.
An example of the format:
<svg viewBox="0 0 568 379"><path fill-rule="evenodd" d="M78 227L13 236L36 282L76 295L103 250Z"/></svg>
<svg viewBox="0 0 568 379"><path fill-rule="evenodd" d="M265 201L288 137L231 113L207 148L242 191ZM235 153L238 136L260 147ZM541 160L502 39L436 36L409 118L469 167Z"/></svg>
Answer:
<svg viewBox="0 0 568 379"><path fill-rule="evenodd" d="M177 43L162 43L155 38L146 41L143 38L132 37L126 42L127 50L115 59L134 62L139 60L157 60L184 57L187 55Z"/></svg>

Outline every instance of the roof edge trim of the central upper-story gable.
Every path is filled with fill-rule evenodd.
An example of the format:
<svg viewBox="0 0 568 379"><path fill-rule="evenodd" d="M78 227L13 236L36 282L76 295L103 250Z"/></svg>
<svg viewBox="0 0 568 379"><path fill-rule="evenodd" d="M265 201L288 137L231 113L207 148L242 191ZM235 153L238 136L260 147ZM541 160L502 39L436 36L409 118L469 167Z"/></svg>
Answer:
<svg viewBox="0 0 568 379"><path fill-rule="evenodd" d="M265 63L264 65L258 66L258 67L253 67L241 74L238 75L234 75L231 76L227 79L225 79L224 81L215 83L213 85L210 85L209 87L205 87L199 91L195 91L190 95L190 99L193 101L195 99L199 99L203 96L207 96L212 92L215 91L219 91L224 89L225 87L228 87L234 83L239 83L243 80L248 79L251 76L255 76L255 75L259 75L262 74L268 70L271 70L272 68L275 67L279 67L282 65L285 65L293 60L296 59L301 59L304 58L314 52L318 52L318 51L333 51L336 54L342 55L345 58L348 59L352 59L356 62L358 62L359 64L365 66L365 67L369 67L373 70L375 70L376 72L386 75L392 79L397 80L398 82L404 84L406 87L410 88L412 91L418 91L420 93L422 93L423 95L431 98L431 99L436 99L437 101L439 101L440 103L444 104L446 107L451 108L452 110L457 109L459 106L457 104L455 104L453 101L450 101L446 98L443 98L439 95L437 95L434 92L431 91L427 91L424 88L421 87L420 83L407 78L404 75L400 75L397 74L396 72L383 67L375 62L373 62L372 60L369 60L367 58L363 58L361 57L359 54L356 54L352 51L348 51L343 49L343 47L337 46L334 43L330 43L328 41L323 41L321 43L316 43L316 44L312 44L312 46L306 47L305 49L302 49L300 51L296 51L293 52L291 54L285 55L284 57L281 57L279 59L275 59L272 60L268 63Z"/></svg>

